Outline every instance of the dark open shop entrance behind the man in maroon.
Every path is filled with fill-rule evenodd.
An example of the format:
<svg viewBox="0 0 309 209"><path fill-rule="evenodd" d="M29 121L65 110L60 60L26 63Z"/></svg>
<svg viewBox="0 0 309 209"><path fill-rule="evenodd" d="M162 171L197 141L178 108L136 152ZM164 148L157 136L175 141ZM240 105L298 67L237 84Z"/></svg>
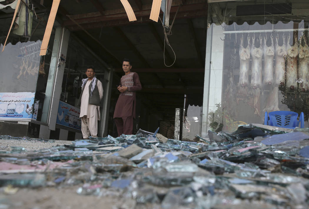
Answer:
<svg viewBox="0 0 309 209"><path fill-rule="evenodd" d="M163 14L157 23L149 19L152 1L129 1L137 17L134 22L128 21L120 2L97 2L104 11L88 8L84 2L73 8L63 5L71 14L64 25L114 72L106 133L117 136L112 118L119 95L116 85L124 75L122 59L129 58L132 72L138 73L142 83L142 91L137 93L135 132L155 132L159 127L159 133L175 138L176 109L180 109L176 138L193 140L201 126L207 2L173 2L170 28L163 28Z"/></svg>

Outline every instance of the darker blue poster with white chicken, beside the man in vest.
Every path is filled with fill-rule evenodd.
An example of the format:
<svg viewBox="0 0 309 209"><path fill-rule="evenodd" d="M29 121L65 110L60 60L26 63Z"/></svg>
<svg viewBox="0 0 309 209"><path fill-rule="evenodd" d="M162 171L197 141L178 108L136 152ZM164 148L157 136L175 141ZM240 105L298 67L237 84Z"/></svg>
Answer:
<svg viewBox="0 0 309 209"><path fill-rule="evenodd" d="M81 130L82 121L79 114L80 110L78 108L59 101L56 124Z"/></svg>

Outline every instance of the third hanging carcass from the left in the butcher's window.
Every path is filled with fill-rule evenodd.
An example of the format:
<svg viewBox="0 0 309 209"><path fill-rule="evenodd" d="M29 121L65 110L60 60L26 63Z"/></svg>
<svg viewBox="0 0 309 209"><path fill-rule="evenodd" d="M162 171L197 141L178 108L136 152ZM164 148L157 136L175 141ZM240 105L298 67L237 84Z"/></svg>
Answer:
<svg viewBox="0 0 309 209"><path fill-rule="evenodd" d="M271 45L266 45L267 36L264 38L263 55L264 55L264 79L263 84L273 84L273 57L275 55L275 47L273 45L273 35L270 36Z"/></svg>

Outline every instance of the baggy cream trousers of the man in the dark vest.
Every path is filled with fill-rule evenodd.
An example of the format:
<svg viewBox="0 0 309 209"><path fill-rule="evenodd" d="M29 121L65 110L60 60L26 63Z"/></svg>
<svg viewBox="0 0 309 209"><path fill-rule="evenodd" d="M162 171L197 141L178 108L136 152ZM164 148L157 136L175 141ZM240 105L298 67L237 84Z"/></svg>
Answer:
<svg viewBox="0 0 309 209"><path fill-rule="evenodd" d="M87 118L87 115L81 117L83 138L98 137L98 114L95 113L93 117Z"/></svg>

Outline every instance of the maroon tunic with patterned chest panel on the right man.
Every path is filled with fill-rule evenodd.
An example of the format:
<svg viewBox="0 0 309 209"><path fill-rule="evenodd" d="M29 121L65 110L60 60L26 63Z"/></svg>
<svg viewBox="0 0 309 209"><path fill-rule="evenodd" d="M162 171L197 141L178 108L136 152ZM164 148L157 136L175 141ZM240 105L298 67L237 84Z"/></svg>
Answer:
<svg viewBox="0 0 309 209"><path fill-rule="evenodd" d="M139 81L138 74L136 72L130 72L128 75L124 75L120 80L121 86L128 87L128 90L121 92L115 107L114 117L129 117L133 114L135 118L135 106L136 106L136 93L142 89L141 82Z"/></svg>

